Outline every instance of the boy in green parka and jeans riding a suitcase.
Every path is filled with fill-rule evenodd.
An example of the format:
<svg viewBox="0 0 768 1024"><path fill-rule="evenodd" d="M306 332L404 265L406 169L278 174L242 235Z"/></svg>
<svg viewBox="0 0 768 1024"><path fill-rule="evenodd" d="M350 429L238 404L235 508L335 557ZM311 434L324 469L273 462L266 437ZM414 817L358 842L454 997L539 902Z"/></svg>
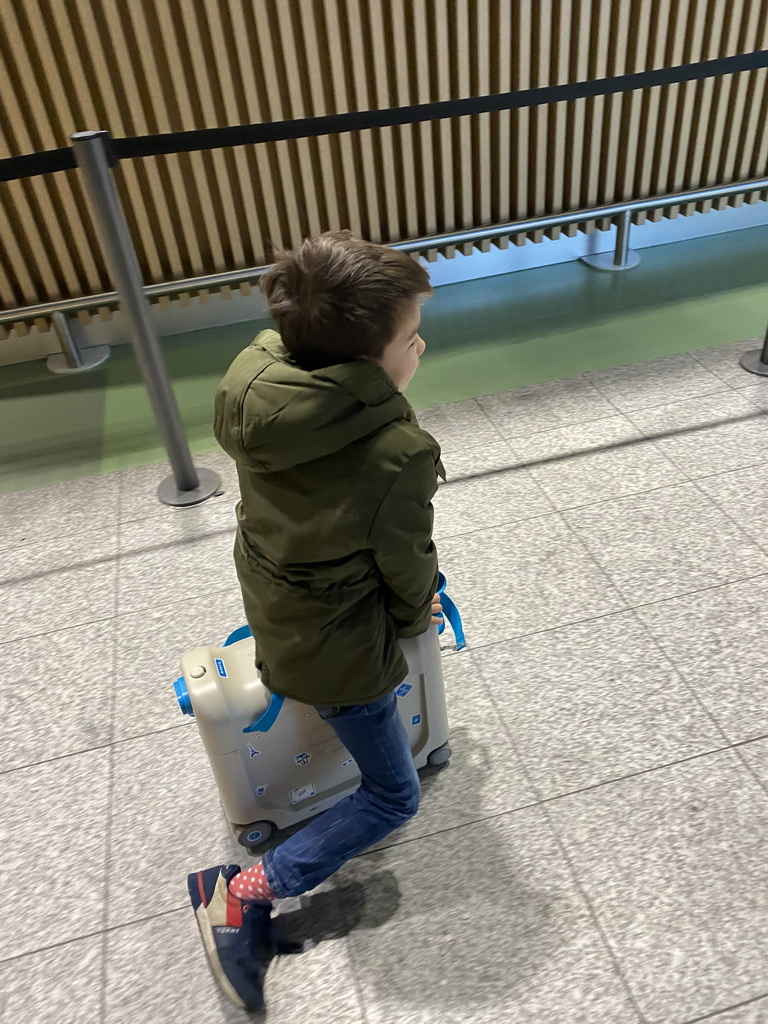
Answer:
<svg viewBox="0 0 768 1024"><path fill-rule="evenodd" d="M318 886L416 814L397 640L440 611L440 450L401 393L425 349L426 271L337 231L280 255L262 289L280 335L241 352L216 395L216 437L240 478L238 575L264 684L317 709L361 783L253 867L188 876L214 976L249 1010L263 1007L269 957L288 951L271 902Z"/></svg>

